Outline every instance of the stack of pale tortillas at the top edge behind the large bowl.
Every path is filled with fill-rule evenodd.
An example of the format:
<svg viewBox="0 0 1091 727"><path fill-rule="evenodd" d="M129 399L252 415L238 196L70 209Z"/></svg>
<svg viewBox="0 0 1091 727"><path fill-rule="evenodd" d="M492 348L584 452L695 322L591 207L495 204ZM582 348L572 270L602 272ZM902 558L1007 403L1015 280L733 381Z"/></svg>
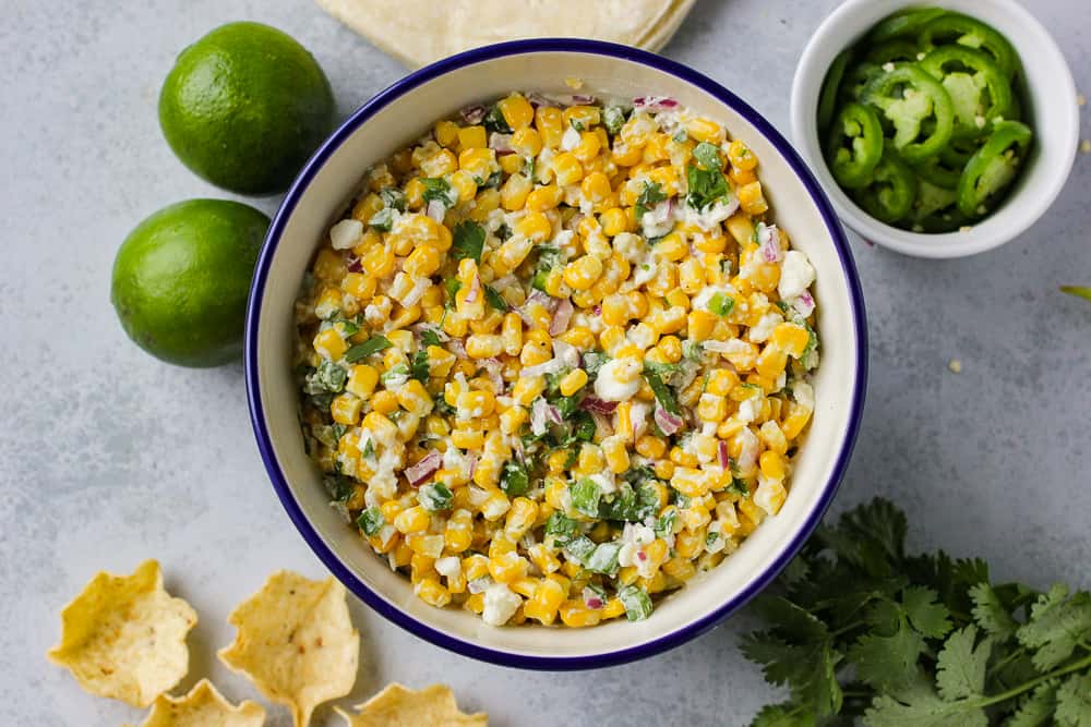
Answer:
<svg viewBox="0 0 1091 727"><path fill-rule="evenodd" d="M334 17L418 68L470 48L564 36L659 50L696 0L317 0Z"/></svg>

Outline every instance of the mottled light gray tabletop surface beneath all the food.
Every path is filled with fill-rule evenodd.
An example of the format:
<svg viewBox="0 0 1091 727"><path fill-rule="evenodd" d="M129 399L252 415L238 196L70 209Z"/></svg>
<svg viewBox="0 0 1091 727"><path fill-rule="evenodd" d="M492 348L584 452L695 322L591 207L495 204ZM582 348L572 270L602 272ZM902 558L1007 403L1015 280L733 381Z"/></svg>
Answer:
<svg viewBox="0 0 1091 727"><path fill-rule="evenodd" d="M836 4L704 0L664 52L787 130L795 61ZM141 718L84 694L44 653L59 607L92 573L151 556L201 615L184 686L208 675L232 699L253 696L214 657L232 635L228 610L276 568L324 571L271 492L241 367L185 371L137 350L110 308L110 266L145 215L224 196L181 167L156 121L159 85L187 44L228 21L276 25L319 58L343 114L404 71L303 0L0 7L0 723ZM1091 3L1033 9L1091 90ZM915 260L854 241L872 375L836 510L886 495L909 511L914 547L979 554L998 575L1036 585L1091 585L1091 304L1057 292L1091 283L1089 187L1091 156L1080 155L1041 223L969 259ZM961 375L948 372L952 358ZM341 703L392 680L446 681L501 727L741 725L776 696L735 649L753 625L745 615L638 664L543 675L478 664L353 611L362 666ZM283 710L272 716L288 724ZM339 724L328 710L323 722Z"/></svg>

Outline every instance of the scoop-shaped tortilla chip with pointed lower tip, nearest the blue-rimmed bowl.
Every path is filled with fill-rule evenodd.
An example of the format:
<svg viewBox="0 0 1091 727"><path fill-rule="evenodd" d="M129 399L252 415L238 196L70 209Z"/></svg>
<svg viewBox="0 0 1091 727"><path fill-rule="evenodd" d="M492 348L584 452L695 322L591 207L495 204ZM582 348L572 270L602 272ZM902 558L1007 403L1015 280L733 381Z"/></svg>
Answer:
<svg viewBox="0 0 1091 727"><path fill-rule="evenodd" d="M335 579L277 571L227 620L238 632L220 661L286 705L296 727L310 723L319 704L352 691L360 633Z"/></svg>

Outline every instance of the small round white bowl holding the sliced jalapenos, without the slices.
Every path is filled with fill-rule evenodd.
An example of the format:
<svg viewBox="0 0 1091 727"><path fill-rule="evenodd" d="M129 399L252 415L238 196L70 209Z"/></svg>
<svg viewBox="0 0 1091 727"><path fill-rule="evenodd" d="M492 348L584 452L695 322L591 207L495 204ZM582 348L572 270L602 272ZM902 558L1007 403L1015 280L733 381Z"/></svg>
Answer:
<svg viewBox="0 0 1091 727"><path fill-rule="evenodd" d="M1007 199L969 230L943 234L910 232L879 222L856 206L830 173L818 138L818 96L834 58L873 25L907 7L907 0L847 0L814 32L792 83L795 146L811 165L841 219L865 240L918 257L962 257L1014 240L1050 208L1068 179L1079 144L1076 84L1050 33L1015 0L939 0L924 5L954 10L1003 33L1022 61L1028 123L1034 130L1030 158Z"/></svg>

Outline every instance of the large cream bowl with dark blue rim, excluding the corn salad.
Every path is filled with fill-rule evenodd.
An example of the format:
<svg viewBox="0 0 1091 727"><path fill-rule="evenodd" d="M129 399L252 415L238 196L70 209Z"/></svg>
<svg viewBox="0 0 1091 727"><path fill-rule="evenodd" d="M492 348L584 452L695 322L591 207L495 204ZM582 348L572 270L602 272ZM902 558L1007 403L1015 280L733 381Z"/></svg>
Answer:
<svg viewBox="0 0 1091 727"><path fill-rule="evenodd" d="M815 267L823 361L816 408L780 513L767 519L731 557L661 599L645 621L589 629L491 627L479 616L433 608L409 580L328 504L317 469L303 451L291 371L292 305L328 227L364 170L411 143L442 118L513 89L604 98L658 95L722 122L760 160L777 225ZM676 646L716 626L776 578L818 524L837 490L856 438L866 380L866 328L860 281L844 232L814 175L754 109L710 78L625 46L539 39L471 50L412 73L364 104L314 154L269 228L251 289L245 372L251 417L274 489L307 544L349 591L418 637L454 652L507 666L582 669L621 664Z"/></svg>

